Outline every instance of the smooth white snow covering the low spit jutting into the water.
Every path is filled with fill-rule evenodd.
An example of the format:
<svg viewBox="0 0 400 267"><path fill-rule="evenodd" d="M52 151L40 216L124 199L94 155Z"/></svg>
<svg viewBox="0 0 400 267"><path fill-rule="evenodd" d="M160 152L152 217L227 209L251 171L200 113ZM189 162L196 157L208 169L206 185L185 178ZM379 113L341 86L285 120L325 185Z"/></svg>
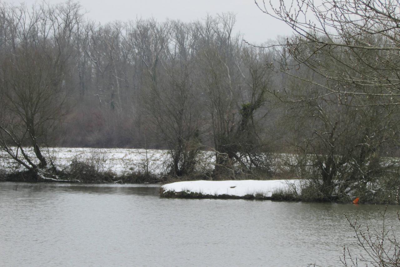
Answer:
<svg viewBox="0 0 400 267"><path fill-rule="evenodd" d="M229 180L229 181L185 181L174 182L162 186L164 192L193 192L209 195L227 194L245 196L246 194L262 194L272 196L274 191L298 188L299 180Z"/></svg>

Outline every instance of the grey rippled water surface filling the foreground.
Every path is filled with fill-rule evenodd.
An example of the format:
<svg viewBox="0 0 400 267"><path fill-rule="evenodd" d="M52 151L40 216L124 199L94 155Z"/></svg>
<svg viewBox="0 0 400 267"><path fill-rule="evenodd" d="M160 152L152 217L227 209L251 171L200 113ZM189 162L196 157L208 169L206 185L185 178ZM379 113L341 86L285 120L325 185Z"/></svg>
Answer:
<svg viewBox="0 0 400 267"><path fill-rule="evenodd" d="M359 252L343 213L381 224L374 205L158 192L155 185L0 183L0 265L338 266L343 245ZM395 210L387 220L397 227Z"/></svg>

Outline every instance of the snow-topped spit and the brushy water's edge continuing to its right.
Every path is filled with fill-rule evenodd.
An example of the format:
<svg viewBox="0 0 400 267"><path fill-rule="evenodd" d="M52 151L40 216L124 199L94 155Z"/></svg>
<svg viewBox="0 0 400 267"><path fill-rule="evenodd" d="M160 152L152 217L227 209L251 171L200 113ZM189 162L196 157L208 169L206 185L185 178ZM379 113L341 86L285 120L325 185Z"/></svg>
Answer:
<svg viewBox="0 0 400 267"><path fill-rule="evenodd" d="M374 194L363 194L355 190L347 194L320 194L308 180L225 180L225 181L184 181L164 184L160 187L160 196L164 198L220 198L220 199L256 199L288 200L304 202L351 203L360 198L360 203L396 204L395 195L376 190Z"/></svg>

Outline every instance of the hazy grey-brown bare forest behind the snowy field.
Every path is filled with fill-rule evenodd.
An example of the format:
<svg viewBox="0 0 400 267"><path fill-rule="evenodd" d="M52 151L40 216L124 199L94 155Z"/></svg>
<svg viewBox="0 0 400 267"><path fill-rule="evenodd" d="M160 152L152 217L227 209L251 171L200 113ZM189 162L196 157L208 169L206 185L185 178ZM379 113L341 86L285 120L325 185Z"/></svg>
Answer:
<svg viewBox="0 0 400 267"><path fill-rule="evenodd" d="M57 127L40 136L52 146L168 148L181 139L214 147L243 138L239 132L249 127L246 138L284 144L287 131L276 123L287 111L270 91L290 81L266 67L274 51L232 34L233 14L102 25L86 20L82 10L72 2L3 3L0 10L2 75L12 61L36 53L31 60L40 62L6 78L40 83L29 76L53 75L60 81L64 106Z"/></svg>

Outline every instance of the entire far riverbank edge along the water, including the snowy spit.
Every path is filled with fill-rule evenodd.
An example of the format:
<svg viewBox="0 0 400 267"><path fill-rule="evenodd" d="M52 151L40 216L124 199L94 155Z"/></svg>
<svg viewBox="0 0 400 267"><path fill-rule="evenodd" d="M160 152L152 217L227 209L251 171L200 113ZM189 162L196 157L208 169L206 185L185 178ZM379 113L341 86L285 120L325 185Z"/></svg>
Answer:
<svg viewBox="0 0 400 267"><path fill-rule="evenodd" d="M0 182L34 182L34 183L71 183L71 184L162 184L162 198L193 199L250 199L250 200L283 200L302 202L338 202L351 203L356 197L362 204L397 204L396 194L375 190L374 194L349 192L347 195L330 197L318 194L308 180L199 180L199 177L172 178L168 176L146 176L140 173L116 176L97 174L96 176L79 177L71 174L35 174L32 172L15 172L6 176L0 174ZM197 179L196 179L197 178ZM185 180L186 179L186 180Z"/></svg>

